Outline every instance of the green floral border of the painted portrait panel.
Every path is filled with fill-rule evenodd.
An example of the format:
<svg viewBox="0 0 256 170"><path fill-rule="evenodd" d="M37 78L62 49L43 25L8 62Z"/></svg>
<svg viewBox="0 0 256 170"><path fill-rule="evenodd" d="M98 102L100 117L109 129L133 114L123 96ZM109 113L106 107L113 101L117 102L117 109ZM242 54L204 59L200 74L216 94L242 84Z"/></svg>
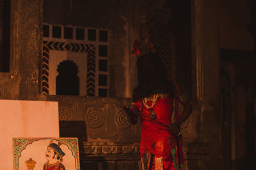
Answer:
<svg viewBox="0 0 256 170"><path fill-rule="evenodd" d="M77 138L13 138L13 167L15 170L19 168L19 158L22 150L34 141L42 139L54 139L68 146L68 149L72 150L72 154L76 159L76 169L80 169L79 164L79 147Z"/></svg>

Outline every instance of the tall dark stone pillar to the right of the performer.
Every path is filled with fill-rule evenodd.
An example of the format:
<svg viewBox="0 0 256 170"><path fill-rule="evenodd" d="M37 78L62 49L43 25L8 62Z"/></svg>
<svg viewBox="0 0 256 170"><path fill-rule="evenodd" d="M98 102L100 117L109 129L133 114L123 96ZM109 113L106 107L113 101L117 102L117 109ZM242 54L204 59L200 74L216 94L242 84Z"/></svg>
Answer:
<svg viewBox="0 0 256 170"><path fill-rule="evenodd" d="M191 2L193 114L200 118L199 142L207 146L200 169L221 169L218 1Z"/></svg>

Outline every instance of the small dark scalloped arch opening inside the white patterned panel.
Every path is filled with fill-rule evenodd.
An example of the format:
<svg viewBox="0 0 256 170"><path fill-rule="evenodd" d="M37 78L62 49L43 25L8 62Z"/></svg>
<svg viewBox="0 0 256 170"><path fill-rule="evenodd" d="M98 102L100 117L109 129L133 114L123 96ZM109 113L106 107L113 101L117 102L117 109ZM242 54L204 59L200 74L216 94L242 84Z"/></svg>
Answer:
<svg viewBox="0 0 256 170"><path fill-rule="evenodd" d="M63 60L58 65L56 95L79 96L78 67L72 60Z"/></svg>

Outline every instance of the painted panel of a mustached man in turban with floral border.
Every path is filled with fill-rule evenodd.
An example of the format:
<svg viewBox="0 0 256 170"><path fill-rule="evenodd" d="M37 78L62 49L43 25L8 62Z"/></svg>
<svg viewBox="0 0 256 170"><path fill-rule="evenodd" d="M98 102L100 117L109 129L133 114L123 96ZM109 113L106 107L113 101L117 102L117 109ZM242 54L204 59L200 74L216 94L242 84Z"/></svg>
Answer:
<svg viewBox="0 0 256 170"><path fill-rule="evenodd" d="M14 170L77 170L77 138L13 138Z"/></svg>

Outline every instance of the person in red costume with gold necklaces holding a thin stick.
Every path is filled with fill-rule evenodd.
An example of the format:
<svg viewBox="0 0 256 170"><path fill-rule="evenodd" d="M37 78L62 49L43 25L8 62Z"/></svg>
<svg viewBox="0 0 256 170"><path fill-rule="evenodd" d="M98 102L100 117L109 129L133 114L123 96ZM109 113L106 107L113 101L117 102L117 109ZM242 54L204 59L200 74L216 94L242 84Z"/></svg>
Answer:
<svg viewBox="0 0 256 170"><path fill-rule="evenodd" d="M133 104L124 106L124 110L132 124L136 124L138 115L141 118L143 170L178 170L183 164L180 125L189 117L191 104L177 84L168 80L156 53L138 56L137 71L139 84L133 90ZM181 115L179 103L184 106ZM172 122L173 110L175 122Z"/></svg>

